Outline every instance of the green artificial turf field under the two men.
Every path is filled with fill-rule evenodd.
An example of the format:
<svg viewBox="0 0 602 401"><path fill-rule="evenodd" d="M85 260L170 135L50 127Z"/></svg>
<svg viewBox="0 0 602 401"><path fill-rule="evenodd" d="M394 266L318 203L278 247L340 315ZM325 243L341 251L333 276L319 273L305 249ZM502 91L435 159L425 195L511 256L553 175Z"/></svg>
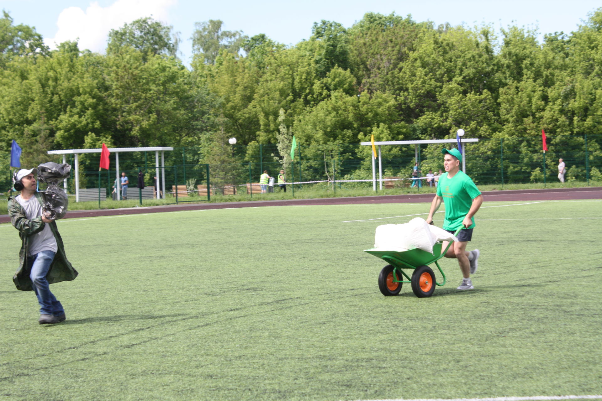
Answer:
<svg viewBox="0 0 602 401"><path fill-rule="evenodd" d="M602 394L602 201L485 203L474 290L442 259L431 298L409 284L382 296L385 263L362 250L377 225L428 208L65 219L80 275L51 286L67 320L45 326L34 293L14 289L20 240L1 224L0 400Z"/></svg>

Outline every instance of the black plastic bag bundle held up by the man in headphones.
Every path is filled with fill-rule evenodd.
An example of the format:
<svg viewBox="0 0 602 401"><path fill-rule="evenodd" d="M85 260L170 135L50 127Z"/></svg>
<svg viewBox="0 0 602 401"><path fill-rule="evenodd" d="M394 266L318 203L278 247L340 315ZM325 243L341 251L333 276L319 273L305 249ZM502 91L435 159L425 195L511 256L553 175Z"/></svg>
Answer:
<svg viewBox="0 0 602 401"><path fill-rule="evenodd" d="M50 220L63 218L67 213L69 198L63 189L58 187L58 183L69 178L71 175L71 166L55 162L43 163L38 166L38 179L48 184L46 188L42 210L44 216Z"/></svg>

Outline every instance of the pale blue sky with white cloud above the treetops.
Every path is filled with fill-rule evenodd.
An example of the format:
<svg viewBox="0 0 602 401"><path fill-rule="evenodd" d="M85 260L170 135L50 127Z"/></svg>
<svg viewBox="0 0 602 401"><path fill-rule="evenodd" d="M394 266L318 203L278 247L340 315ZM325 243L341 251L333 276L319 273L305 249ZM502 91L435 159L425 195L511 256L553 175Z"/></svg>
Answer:
<svg viewBox="0 0 602 401"><path fill-rule="evenodd" d="M189 65L195 22L220 19L222 29L245 35L266 34L294 45L311 35L314 22L332 20L349 28L367 12L412 15L417 22L435 25L509 25L546 33L574 31L588 13L602 7L592 0L0 0L15 24L34 26L51 49L79 38L80 49L104 53L107 35L132 20L152 16L179 32L179 57Z"/></svg>

